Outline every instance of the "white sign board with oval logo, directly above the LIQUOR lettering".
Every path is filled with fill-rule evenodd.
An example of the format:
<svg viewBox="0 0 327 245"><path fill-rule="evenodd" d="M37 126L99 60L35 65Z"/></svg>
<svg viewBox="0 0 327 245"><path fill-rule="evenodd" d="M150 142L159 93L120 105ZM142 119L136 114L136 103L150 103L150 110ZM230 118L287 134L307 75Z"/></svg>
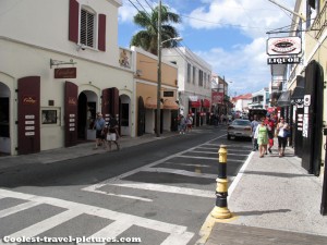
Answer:
<svg viewBox="0 0 327 245"><path fill-rule="evenodd" d="M290 56L302 52L300 37L271 37L267 40L267 53L269 56Z"/></svg>

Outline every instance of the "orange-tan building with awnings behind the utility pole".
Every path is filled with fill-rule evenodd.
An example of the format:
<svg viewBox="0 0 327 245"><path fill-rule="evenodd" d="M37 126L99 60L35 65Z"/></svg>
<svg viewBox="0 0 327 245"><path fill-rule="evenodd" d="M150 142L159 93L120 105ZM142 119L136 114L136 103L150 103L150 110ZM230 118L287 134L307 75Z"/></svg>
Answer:
<svg viewBox="0 0 327 245"><path fill-rule="evenodd" d="M156 131L158 57L132 47L135 56L135 114L137 136ZM161 62L160 133L178 131L178 66Z"/></svg>

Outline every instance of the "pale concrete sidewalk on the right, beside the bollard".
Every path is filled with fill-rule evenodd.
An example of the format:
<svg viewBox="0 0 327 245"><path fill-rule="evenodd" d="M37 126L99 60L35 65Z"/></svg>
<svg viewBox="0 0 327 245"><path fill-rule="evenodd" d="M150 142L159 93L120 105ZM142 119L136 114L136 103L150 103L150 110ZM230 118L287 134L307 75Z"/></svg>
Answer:
<svg viewBox="0 0 327 245"><path fill-rule="evenodd" d="M290 147L279 158L276 143L272 155L250 155L229 187L233 217L219 221L209 215L197 244L327 244L322 177L307 174Z"/></svg>

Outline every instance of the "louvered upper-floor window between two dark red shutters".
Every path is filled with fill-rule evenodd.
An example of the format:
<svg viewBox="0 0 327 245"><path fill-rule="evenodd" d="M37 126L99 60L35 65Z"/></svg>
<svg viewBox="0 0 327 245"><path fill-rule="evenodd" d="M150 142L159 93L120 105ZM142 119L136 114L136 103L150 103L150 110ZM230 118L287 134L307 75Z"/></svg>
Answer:
<svg viewBox="0 0 327 245"><path fill-rule="evenodd" d="M95 39L95 14L82 9L81 10L81 27L80 42L90 48L94 47Z"/></svg>

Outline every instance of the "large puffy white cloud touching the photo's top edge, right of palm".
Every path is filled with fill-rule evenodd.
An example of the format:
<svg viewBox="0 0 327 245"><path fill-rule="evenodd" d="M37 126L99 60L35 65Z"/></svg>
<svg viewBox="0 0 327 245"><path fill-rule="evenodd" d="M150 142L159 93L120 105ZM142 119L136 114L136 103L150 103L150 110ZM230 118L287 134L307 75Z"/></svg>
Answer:
<svg viewBox="0 0 327 245"><path fill-rule="evenodd" d="M249 37L259 37L267 30L286 26L290 13L281 10L268 0L213 0L206 7L193 10L187 19L192 28L216 29L239 28ZM294 0L283 0L290 9Z"/></svg>

